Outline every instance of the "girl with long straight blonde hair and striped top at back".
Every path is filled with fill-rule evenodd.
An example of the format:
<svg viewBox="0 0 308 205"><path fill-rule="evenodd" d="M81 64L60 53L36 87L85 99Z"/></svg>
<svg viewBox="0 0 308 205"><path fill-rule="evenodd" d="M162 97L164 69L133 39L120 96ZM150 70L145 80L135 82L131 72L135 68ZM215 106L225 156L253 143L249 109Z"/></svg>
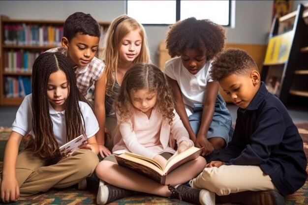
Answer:
<svg viewBox="0 0 308 205"><path fill-rule="evenodd" d="M105 131L111 135L117 119L113 103L120 92L123 76L129 68L137 62L150 62L145 29L135 19L121 15L114 19L107 30L106 46L103 52L103 61L106 64L106 94ZM112 149L112 142L107 142Z"/></svg>

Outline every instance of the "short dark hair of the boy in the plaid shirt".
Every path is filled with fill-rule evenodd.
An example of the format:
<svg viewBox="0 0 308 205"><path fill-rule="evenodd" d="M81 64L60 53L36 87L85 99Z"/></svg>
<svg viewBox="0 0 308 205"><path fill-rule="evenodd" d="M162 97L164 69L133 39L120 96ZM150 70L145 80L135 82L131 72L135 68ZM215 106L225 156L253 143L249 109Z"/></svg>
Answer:
<svg viewBox="0 0 308 205"><path fill-rule="evenodd" d="M70 41L78 33L99 38L99 24L90 14L75 12L64 22L63 37L66 37Z"/></svg>

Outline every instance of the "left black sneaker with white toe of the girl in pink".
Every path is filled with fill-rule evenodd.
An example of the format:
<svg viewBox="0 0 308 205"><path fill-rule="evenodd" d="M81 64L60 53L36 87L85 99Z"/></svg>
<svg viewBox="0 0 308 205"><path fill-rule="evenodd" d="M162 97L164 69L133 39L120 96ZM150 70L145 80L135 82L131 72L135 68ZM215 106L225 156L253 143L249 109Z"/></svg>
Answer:
<svg viewBox="0 0 308 205"><path fill-rule="evenodd" d="M105 205L118 199L130 197L136 193L135 191L122 189L110 184L100 185L97 192L96 203L98 205Z"/></svg>

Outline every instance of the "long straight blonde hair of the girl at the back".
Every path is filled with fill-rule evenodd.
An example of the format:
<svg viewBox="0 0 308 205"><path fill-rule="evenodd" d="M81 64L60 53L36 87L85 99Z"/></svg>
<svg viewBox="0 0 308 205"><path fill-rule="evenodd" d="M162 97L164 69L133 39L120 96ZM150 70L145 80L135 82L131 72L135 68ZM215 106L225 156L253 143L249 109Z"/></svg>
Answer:
<svg viewBox="0 0 308 205"><path fill-rule="evenodd" d="M106 46L103 51L102 60L106 64L106 94L109 96L112 95L112 90L115 84L115 76L113 75L113 70L116 72L118 68L119 50L123 38L131 31L138 29L142 38L142 44L140 54L133 61L133 64L137 62L151 62L145 29L135 19L130 18L127 15L121 15L111 22L111 25L107 30Z"/></svg>

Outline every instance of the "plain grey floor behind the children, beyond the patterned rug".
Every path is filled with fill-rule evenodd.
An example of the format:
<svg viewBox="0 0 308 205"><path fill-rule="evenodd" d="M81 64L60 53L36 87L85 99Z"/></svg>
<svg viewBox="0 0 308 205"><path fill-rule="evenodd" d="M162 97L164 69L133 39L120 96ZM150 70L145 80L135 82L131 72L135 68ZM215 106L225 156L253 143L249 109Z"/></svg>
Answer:
<svg viewBox="0 0 308 205"><path fill-rule="evenodd" d="M232 121L235 123L238 107L232 103L228 103L227 107L230 110ZM308 121L308 106L289 106L287 109L294 122ZM17 110L17 106L0 106L0 126L11 127Z"/></svg>

